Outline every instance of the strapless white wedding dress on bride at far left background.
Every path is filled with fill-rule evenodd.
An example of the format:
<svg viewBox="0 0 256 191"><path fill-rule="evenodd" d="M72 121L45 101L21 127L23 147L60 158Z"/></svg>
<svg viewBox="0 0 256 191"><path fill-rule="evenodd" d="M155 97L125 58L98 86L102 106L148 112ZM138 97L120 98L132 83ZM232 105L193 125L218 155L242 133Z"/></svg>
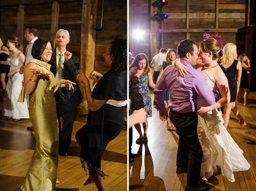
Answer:
<svg viewBox="0 0 256 191"><path fill-rule="evenodd" d="M19 60L9 58L7 63L11 66L10 72L22 66ZM23 74L16 72L11 78L8 78L4 97L3 97L3 116L12 116L13 119L28 119L29 110L27 102L17 102L22 89Z"/></svg>

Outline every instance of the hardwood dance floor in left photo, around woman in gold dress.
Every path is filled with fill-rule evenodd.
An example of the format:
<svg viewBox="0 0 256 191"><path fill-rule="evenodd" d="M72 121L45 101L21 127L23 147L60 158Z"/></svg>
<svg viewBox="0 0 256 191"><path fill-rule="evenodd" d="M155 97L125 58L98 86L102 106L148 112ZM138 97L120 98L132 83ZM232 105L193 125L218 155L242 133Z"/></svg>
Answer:
<svg viewBox="0 0 256 191"><path fill-rule="evenodd" d="M2 102L1 107L2 108ZM2 113L2 111L1 111ZM84 186L86 175L80 163L80 149L75 141L75 133L85 122L78 114L87 113L77 108L72 133L69 156L59 155L56 191L96 191L95 184ZM35 137L27 130L29 119L14 122L13 119L0 118L0 191L18 191L23 184L34 153ZM127 190L127 130L123 129L118 137L110 141L102 156L101 167L105 174L105 186L111 191Z"/></svg>

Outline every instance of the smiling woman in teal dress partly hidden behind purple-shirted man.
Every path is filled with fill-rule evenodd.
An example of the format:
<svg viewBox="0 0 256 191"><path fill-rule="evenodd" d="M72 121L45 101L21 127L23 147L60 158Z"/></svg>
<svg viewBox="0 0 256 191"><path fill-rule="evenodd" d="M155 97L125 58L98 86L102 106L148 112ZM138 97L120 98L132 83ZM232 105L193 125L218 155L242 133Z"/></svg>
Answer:
<svg viewBox="0 0 256 191"><path fill-rule="evenodd" d="M176 50L173 49L173 48L170 48L170 49L167 51L167 53L166 53L165 61L163 61L163 65L162 65L162 67L161 67L161 70L160 70L160 73L159 73L159 76L158 76L156 82L159 80L160 76L161 76L162 73L164 72L164 69L165 69L167 66L173 64L173 63L174 63L174 60L175 60L176 58L179 58L179 56L178 56ZM169 92L168 92L168 90L166 90L166 91L164 91L164 101L166 101L166 103L167 103L167 113L168 113L168 116L169 116L169 111L170 111L170 108L168 108L169 99L170 99L170 97L169 97ZM167 130L168 130L168 131L176 130L175 126L172 124L172 122L171 122L171 120L169 119L169 117L168 117L168 119L167 119Z"/></svg>

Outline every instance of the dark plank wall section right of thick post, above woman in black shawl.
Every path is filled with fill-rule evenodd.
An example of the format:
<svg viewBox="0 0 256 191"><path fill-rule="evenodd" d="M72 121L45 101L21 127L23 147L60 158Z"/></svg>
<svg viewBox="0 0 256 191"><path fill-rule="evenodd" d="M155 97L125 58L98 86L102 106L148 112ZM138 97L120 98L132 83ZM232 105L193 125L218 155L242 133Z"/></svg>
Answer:
<svg viewBox="0 0 256 191"><path fill-rule="evenodd" d="M98 0L97 27L100 27L102 0ZM109 71L103 63L105 47L116 36L127 39L127 0L104 0L102 30L96 31L94 70L104 74Z"/></svg>

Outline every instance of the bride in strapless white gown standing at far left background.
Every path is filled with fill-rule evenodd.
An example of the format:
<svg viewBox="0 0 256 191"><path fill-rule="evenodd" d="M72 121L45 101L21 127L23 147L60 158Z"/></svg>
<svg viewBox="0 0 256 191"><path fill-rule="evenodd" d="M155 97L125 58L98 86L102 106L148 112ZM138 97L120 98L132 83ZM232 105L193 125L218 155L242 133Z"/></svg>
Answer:
<svg viewBox="0 0 256 191"><path fill-rule="evenodd" d="M10 65L10 72L8 73L8 82L6 85L5 94L3 97L2 114L7 116L7 119L12 117L15 121L20 119L28 119L29 111L27 102L17 102L20 91L22 89L23 74L20 74L20 67L25 60L24 54L19 50L20 42L17 37L10 37L7 41L7 46L11 51L7 61L3 64Z"/></svg>

